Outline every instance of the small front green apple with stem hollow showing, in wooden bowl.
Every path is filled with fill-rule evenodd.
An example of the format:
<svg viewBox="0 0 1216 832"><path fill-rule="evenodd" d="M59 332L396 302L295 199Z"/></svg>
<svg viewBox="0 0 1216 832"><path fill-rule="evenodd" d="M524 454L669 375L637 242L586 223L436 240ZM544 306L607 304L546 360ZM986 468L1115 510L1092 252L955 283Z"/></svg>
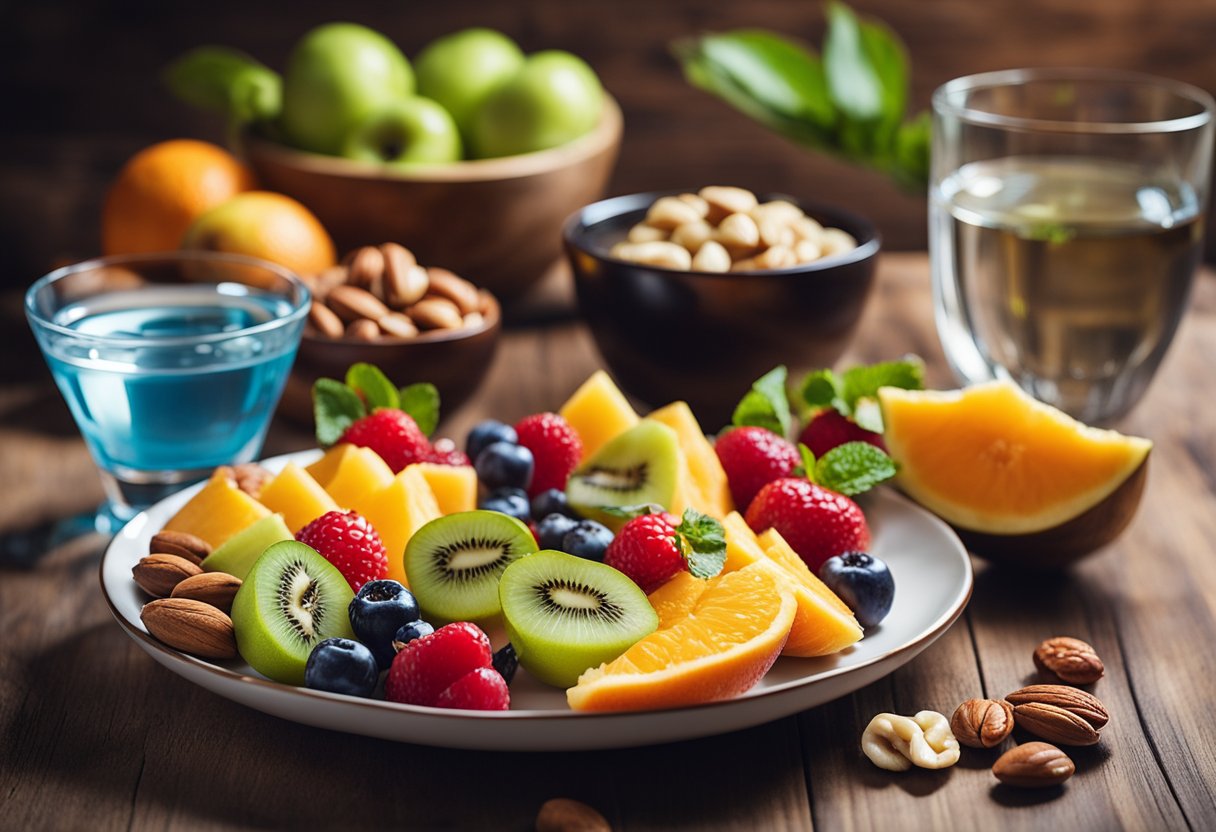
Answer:
<svg viewBox="0 0 1216 832"><path fill-rule="evenodd" d="M342 145L348 159L381 164L458 162L456 122L430 99L410 96L355 124Z"/></svg>

